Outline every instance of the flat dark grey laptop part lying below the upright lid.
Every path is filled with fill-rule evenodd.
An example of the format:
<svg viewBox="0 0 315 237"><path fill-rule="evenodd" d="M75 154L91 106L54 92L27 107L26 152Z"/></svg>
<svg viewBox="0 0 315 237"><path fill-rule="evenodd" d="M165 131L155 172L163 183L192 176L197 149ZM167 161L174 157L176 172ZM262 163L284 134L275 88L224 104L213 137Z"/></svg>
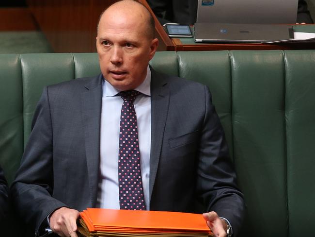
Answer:
<svg viewBox="0 0 315 237"><path fill-rule="evenodd" d="M289 25L195 23L197 43L268 43L294 39Z"/></svg>

